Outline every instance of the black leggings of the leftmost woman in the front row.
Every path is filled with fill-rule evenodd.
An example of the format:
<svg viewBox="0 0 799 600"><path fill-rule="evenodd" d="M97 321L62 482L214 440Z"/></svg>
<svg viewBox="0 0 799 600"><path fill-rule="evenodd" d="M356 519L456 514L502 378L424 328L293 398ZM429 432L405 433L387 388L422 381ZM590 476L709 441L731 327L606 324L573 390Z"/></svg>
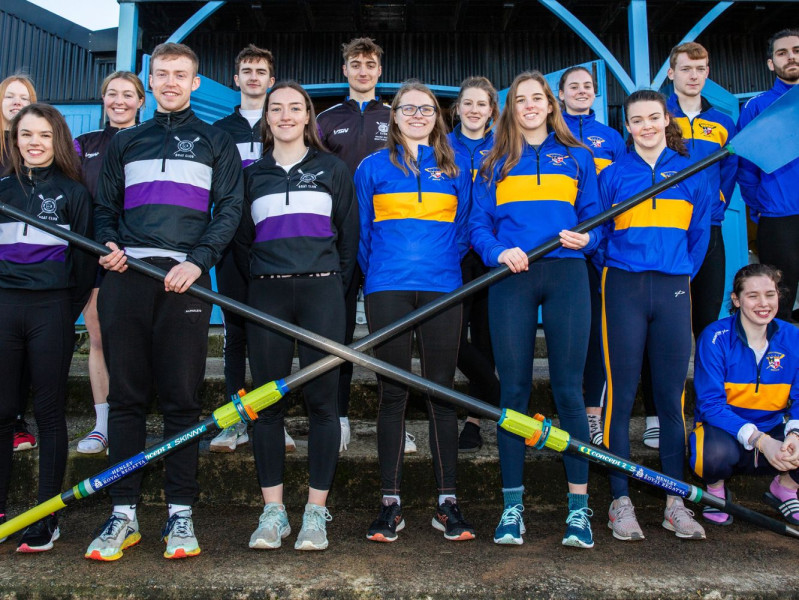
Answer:
<svg viewBox="0 0 799 600"><path fill-rule="evenodd" d="M61 491L67 464L64 405L74 331L69 292L0 289L0 513L6 512L14 421L26 363L39 427L37 502Z"/></svg>

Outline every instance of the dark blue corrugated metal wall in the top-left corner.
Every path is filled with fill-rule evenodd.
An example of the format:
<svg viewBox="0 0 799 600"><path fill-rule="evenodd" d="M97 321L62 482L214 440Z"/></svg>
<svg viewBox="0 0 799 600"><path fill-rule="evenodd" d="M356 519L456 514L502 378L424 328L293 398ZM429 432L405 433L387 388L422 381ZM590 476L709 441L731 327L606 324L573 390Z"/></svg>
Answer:
<svg viewBox="0 0 799 600"><path fill-rule="evenodd" d="M110 59L0 10L0 80L22 71L50 103L97 101L100 84L114 70Z"/></svg>

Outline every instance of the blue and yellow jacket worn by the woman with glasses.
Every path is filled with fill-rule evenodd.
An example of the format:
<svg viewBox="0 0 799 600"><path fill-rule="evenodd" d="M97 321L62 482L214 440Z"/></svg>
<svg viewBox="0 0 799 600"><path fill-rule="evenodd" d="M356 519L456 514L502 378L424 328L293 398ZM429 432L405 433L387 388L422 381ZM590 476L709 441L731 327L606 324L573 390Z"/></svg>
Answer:
<svg viewBox="0 0 799 600"><path fill-rule="evenodd" d="M384 148L363 159L355 172L364 294L451 292L461 285L460 261L469 250L469 165L456 156L459 173L448 177L436 165L433 149L423 145L417 159L419 173L405 174Z"/></svg>

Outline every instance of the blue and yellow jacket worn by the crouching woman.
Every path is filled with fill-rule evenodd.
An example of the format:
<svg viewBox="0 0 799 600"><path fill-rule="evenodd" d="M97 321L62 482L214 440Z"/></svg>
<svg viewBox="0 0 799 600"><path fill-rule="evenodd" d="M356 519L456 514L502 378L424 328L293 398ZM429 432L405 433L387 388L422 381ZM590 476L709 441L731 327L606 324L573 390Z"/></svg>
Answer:
<svg viewBox="0 0 799 600"><path fill-rule="evenodd" d="M696 344L694 386L697 423L733 437L747 423L771 431L799 419L799 330L774 319L758 365L736 314L707 327Z"/></svg>

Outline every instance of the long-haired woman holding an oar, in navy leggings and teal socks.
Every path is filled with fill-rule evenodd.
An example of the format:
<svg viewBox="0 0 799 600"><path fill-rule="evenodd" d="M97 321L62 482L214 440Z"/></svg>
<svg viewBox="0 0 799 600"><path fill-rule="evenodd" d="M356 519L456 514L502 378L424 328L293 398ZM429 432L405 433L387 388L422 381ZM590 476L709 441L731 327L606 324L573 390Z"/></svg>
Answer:
<svg viewBox="0 0 799 600"><path fill-rule="evenodd" d="M527 412L541 306L560 424L582 439L588 437L582 374L591 320L585 254L598 237L569 230L598 212L591 153L569 132L541 73L522 73L508 90L494 148L475 180L471 240L487 266L506 264L515 273L489 290L501 407ZM563 247L528 265L526 253L558 234ZM502 430L497 444L505 508L494 542L521 544L525 444ZM588 464L575 457L563 462L569 482L563 544L590 548Z"/></svg>

